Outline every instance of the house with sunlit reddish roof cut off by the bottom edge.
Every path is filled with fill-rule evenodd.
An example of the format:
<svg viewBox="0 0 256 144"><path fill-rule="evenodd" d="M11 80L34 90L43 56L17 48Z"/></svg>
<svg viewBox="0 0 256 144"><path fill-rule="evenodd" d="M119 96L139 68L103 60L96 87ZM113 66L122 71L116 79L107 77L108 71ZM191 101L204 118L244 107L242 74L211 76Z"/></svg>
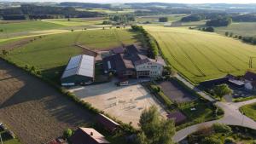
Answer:
<svg viewBox="0 0 256 144"><path fill-rule="evenodd" d="M92 128L79 128L70 137L73 144L108 144L105 137Z"/></svg>

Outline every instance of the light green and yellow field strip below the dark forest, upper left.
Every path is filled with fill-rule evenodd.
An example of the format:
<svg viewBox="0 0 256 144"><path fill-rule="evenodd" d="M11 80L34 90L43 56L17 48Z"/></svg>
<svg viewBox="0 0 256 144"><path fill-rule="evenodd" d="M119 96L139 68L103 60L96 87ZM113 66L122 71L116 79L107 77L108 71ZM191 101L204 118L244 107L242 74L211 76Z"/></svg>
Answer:
<svg viewBox="0 0 256 144"><path fill-rule="evenodd" d="M34 34L33 32L40 33L46 30L59 30L62 29L84 29L90 28L90 26L96 26L102 23L102 18L94 19L53 19L53 20L21 20L17 21L1 21L0 29L0 40L10 37L29 36Z"/></svg>

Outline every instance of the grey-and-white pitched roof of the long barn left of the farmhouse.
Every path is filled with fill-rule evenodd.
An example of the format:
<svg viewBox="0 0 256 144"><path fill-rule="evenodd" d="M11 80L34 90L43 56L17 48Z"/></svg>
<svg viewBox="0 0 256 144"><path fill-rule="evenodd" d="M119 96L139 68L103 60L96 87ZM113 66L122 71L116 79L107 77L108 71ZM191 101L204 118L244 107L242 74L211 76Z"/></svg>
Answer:
<svg viewBox="0 0 256 144"><path fill-rule="evenodd" d="M68 78L73 75L94 78L95 57L90 55L73 56L62 74L61 78Z"/></svg>

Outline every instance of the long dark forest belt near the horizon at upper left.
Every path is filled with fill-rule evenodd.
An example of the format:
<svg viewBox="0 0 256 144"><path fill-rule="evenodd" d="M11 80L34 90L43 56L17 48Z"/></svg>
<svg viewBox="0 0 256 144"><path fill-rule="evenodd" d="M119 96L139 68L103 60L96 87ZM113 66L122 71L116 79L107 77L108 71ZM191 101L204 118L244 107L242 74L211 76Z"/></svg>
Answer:
<svg viewBox="0 0 256 144"><path fill-rule="evenodd" d="M3 20L38 20L54 18L88 18L104 16L102 13L78 11L73 7L37 6L22 4L18 8L0 9Z"/></svg>

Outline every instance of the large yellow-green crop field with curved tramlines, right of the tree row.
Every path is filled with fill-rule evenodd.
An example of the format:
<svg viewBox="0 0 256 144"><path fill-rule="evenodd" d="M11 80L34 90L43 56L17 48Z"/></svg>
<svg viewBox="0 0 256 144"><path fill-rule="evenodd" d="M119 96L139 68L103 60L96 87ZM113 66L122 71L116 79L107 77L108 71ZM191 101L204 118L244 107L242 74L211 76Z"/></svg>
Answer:
<svg viewBox="0 0 256 144"><path fill-rule="evenodd" d="M244 74L256 47L216 33L145 26L169 63L194 84L230 73ZM253 67L256 63L253 62Z"/></svg>

